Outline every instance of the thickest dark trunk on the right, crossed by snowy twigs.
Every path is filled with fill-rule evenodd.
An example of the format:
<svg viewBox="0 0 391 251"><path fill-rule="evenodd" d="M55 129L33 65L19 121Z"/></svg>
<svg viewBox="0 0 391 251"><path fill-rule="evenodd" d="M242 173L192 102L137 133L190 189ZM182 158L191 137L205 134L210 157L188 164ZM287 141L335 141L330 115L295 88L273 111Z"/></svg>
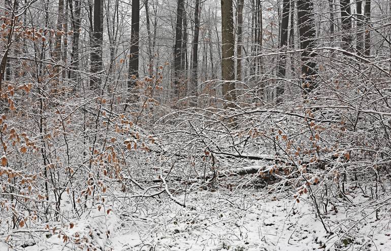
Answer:
<svg viewBox="0 0 391 251"><path fill-rule="evenodd" d="M298 0L298 26L300 37L300 49L302 52L303 90L307 95L316 87L316 52L312 49L316 46L316 31L313 17L313 4L311 0Z"/></svg>

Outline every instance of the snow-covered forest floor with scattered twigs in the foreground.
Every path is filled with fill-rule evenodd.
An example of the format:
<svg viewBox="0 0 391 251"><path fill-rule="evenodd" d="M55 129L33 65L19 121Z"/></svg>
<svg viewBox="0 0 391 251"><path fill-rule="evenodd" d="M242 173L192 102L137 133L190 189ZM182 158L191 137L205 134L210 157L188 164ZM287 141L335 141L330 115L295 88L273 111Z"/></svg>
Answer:
<svg viewBox="0 0 391 251"><path fill-rule="evenodd" d="M297 203L286 192L254 189L192 192L185 208L165 199L128 204L134 211L126 213L94 209L63 231L87 240L90 250L391 250L391 212L376 213L369 197L352 194L350 206L322 209L331 233L307 195ZM46 235L23 250L79 249L74 242Z"/></svg>

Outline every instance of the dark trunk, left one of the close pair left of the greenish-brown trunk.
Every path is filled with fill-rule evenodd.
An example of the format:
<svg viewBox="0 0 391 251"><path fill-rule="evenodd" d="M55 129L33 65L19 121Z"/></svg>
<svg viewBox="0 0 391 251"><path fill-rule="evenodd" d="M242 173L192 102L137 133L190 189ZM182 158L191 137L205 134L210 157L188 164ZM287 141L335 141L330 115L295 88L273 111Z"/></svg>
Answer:
<svg viewBox="0 0 391 251"><path fill-rule="evenodd" d="M177 20L175 25L174 45L174 96L180 99L180 81L182 79L181 55L182 55L182 24L183 24L184 0L178 0Z"/></svg>

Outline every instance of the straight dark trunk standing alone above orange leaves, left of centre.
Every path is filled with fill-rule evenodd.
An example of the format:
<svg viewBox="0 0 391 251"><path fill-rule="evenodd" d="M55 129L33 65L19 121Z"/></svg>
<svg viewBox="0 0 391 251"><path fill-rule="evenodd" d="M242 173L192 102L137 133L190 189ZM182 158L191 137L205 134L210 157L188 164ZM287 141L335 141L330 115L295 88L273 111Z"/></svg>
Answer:
<svg viewBox="0 0 391 251"><path fill-rule="evenodd" d="M136 87L139 78L139 31L140 31L140 0L132 0L132 30L129 68L127 71L127 88Z"/></svg>

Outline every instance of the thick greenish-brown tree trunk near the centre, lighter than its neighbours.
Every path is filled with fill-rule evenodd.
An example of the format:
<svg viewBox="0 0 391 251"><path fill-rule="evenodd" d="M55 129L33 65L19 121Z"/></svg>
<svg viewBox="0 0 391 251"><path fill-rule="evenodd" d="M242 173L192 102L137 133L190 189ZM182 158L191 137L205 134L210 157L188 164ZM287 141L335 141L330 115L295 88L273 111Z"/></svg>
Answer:
<svg viewBox="0 0 391 251"><path fill-rule="evenodd" d="M221 78L222 94L228 101L226 106L233 107L233 101L236 100L235 93L235 62L234 62L234 17L232 0L221 0Z"/></svg>

